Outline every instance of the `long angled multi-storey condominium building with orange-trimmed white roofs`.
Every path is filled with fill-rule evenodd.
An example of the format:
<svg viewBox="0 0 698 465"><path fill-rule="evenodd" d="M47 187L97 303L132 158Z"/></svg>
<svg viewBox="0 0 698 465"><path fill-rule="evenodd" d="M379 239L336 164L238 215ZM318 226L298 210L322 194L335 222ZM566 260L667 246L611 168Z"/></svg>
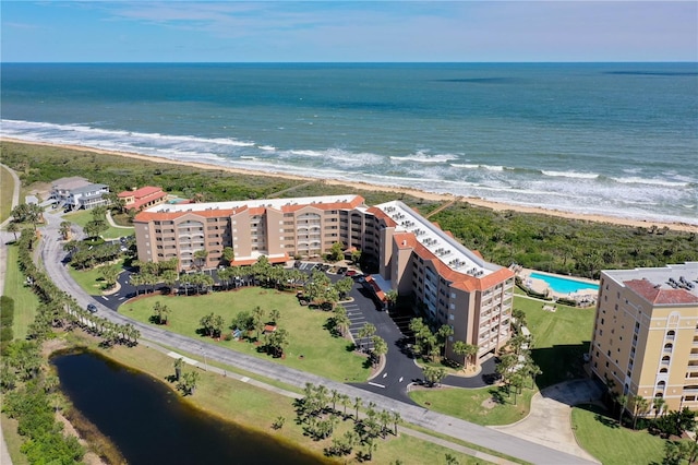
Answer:
<svg viewBox="0 0 698 465"><path fill-rule="evenodd" d="M327 252L336 242L359 249L378 270L382 291L412 296L434 325L479 347L479 358L510 337L514 273L488 263L401 202L368 206L359 195L157 205L134 219L139 259L179 259L180 270L217 266L231 247L234 265L272 263ZM196 262L195 252L206 258Z"/></svg>

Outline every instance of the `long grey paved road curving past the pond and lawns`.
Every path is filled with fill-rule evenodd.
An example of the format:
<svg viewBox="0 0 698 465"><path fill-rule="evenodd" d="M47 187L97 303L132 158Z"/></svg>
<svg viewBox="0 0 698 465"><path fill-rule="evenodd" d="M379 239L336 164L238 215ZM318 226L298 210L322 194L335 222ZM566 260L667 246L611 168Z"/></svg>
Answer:
<svg viewBox="0 0 698 465"><path fill-rule="evenodd" d="M62 251L62 247L59 241L58 225L60 224L60 217L51 214L47 214L46 217L49 224L44 228L40 246L41 259L46 271L59 288L71 294L81 306L86 307L87 303L94 302L94 299L70 278L64 264L61 262L64 257L64 252ZM364 403L373 402L380 409L399 412L401 418L407 422L441 432L452 438L468 441L483 448L500 451L504 454L518 457L527 462L544 464L589 463L589 461L582 457L556 451L491 428L473 425L468 421L430 412L425 408L410 405L406 402L396 401L394 398L388 398L384 395L378 395L356 386L335 382L312 373L279 366L272 361L236 353L224 347L208 345L191 337L169 333L152 325L132 321L120 313L109 310L98 300L97 303L103 317L117 323L132 323L136 326L139 331L141 331L142 343L144 344L152 341L153 343L166 347L177 347L178 349L189 354L201 354L202 356L205 354L206 358L209 360L215 359L218 362L238 367L298 388L303 388L306 382L323 384L329 390L337 390L339 393L347 394L352 398L361 397Z"/></svg>

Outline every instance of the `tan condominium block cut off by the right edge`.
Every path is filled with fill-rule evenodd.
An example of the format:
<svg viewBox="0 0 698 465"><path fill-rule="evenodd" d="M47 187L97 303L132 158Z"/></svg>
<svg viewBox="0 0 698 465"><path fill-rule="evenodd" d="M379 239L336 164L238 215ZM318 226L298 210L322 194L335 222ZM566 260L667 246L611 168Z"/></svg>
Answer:
<svg viewBox="0 0 698 465"><path fill-rule="evenodd" d="M602 272L590 361L619 394L698 410L698 262Z"/></svg>

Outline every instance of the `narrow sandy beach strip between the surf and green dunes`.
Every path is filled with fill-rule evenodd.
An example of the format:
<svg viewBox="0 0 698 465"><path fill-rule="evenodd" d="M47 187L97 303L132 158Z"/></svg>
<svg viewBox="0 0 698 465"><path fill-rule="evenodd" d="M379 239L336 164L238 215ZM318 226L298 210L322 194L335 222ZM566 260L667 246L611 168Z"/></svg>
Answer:
<svg viewBox="0 0 698 465"><path fill-rule="evenodd" d="M12 142L12 143L25 144L25 145L38 145L38 146L48 146L48 147L57 147L57 148L67 148L67 150L74 150L80 152L93 152L93 153L103 154L103 155L113 155L113 156L122 156L122 157L134 158L134 159L142 159L144 162L166 163L170 165L188 166L190 168L196 168L196 169L221 170L221 171L237 174L237 175L263 176L263 177L292 179L297 181L318 181L318 182L326 182L327 184L330 184L330 186L346 186L349 189L357 189L357 190L396 192L400 194L412 195L416 198L421 198L421 199L436 201L436 202L453 202L453 201L460 200L471 205L494 210L496 212L509 210L518 213L530 213L530 214L556 216L556 217L566 218L566 219L605 223L605 224L612 224L617 226L628 226L634 228L639 228L639 227L647 228L651 226L658 226L660 228L667 227L669 229L683 231L683 233L698 233L698 225L691 225L688 223L652 222L652 220L646 220L646 219L624 218L624 217L611 216L611 215L571 213L571 212L564 212L559 210L549 210L549 208L543 208L538 206L522 206L522 205L513 205L513 204L506 204L501 202L493 202L493 201L483 200L481 198L459 196L459 195L447 194L447 193L426 192L419 189L404 188L399 186L380 186L380 184L372 184L372 183L362 182L362 181L322 179L322 178L304 177L304 176L298 176L298 175L287 175L287 174L275 172L275 171L257 171L252 169L231 168L231 167L214 165L209 163L182 162L182 160L177 160L171 158L139 154L133 152L119 152L119 151L109 151L104 148L93 148L84 145L55 144L49 142L31 142L31 141L23 141L21 139L12 139L12 138L5 138L5 136L0 136L0 142Z"/></svg>

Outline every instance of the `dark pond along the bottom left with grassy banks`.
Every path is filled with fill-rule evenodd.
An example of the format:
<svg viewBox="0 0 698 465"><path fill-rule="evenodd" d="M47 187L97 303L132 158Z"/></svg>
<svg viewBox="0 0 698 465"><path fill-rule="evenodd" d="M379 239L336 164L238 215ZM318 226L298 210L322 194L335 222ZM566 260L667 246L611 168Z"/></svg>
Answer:
<svg viewBox="0 0 698 465"><path fill-rule="evenodd" d="M163 382L92 351L51 359L74 407L129 464L321 464L290 443L194 408Z"/></svg>

